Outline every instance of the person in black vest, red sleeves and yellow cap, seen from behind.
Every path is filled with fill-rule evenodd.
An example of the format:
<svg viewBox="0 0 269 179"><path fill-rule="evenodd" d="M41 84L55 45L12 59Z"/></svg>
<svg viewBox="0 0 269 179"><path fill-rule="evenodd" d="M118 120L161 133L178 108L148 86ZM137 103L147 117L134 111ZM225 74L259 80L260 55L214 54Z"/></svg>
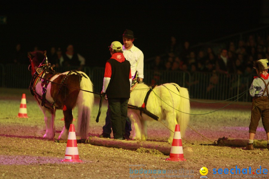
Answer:
<svg viewBox="0 0 269 179"><path fill-rule="evenodd" d="M106 62L103 90L108 98L109 117L114 139L123 140L127 118L127 105L132 84L131 65L124 58L122 44L111 43L111 58Z"/></svg>

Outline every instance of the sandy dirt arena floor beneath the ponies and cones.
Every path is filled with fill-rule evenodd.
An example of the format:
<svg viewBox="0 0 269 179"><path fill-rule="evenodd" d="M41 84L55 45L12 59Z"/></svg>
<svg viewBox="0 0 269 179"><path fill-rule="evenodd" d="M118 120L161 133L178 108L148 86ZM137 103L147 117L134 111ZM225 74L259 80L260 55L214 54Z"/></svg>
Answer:
<svg viewBox="0 0 269 179"><path fill-rule="evenodd" d="M22 93L26 94L29 118L16 118ZM96 123L99 99L95 98L95 101L91 136L101 134L107 109L104 102L100 121ZM191 102L191 113L207 113L228 103ZM250 113L251 103L236 102L207 115L191 115L189 126L206 138L187 128L184 138L190 143L183 140L186 161L167 161L169 155L156 149L127 150L78 143L79 157L83 162L70 163L61 161L65 157L66 143L42 138L45 134L44 116L29 91L0 88L0 178L200 178L199 170L203 166L208 169L208 178L267 178L267 149L248 151L244 146L213 145L222 137L248 139ZM76 109L73 114L76 118ZM56 138L64 125L62 117L62 112L57 111ZM151 121L148 136L149 141L164 145L169 130L160 122ZM255 139L266 140L261 121Z"/></svg>

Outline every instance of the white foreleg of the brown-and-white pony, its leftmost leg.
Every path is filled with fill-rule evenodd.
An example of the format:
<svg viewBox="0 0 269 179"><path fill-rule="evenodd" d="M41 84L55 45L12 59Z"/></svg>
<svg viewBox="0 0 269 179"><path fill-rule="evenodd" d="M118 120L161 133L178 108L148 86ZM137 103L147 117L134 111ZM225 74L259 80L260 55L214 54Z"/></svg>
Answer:
<svg viewBox="0 0 269 179"><path fill-rule="evenodd" d="M44 113L44 121L46 124L46 133L43 135L43 138L53 139L55 136L55 126L54 126L54 114L52 110L49 110L45 107L41 107Z"/></svg>

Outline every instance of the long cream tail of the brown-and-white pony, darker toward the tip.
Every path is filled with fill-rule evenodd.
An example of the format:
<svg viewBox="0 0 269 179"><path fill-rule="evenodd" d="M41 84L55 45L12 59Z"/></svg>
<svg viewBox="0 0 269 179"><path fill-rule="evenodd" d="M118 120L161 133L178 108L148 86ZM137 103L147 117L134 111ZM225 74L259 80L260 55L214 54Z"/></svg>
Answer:
<svg viewBox="0 0 269 179"><path fill-rule="evenodd" d="M83 73L83 72L81 72ZM88 77L85 73L83 73ZM80 81L80 89L93 91L93 84L89 78L82 77ZM78 107L78 120L77 120L77 133L82 139L88 137L91 110L94 104L94 94L80 90L77 98Z"/></svg>

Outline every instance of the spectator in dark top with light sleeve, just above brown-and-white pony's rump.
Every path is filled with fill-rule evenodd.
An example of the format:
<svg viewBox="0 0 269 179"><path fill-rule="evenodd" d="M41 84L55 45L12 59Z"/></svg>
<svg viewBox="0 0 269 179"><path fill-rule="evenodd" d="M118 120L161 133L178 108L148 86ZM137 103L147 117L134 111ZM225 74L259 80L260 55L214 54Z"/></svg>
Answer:
<svg viewBox="0 0 269 179"><path fill-rule="evenodd" d="M63 58L63 66L79 66L77 70L82 70L85 65L85 58L79 53L74 52L74 47L71 44L66 48Z"/></svg>

